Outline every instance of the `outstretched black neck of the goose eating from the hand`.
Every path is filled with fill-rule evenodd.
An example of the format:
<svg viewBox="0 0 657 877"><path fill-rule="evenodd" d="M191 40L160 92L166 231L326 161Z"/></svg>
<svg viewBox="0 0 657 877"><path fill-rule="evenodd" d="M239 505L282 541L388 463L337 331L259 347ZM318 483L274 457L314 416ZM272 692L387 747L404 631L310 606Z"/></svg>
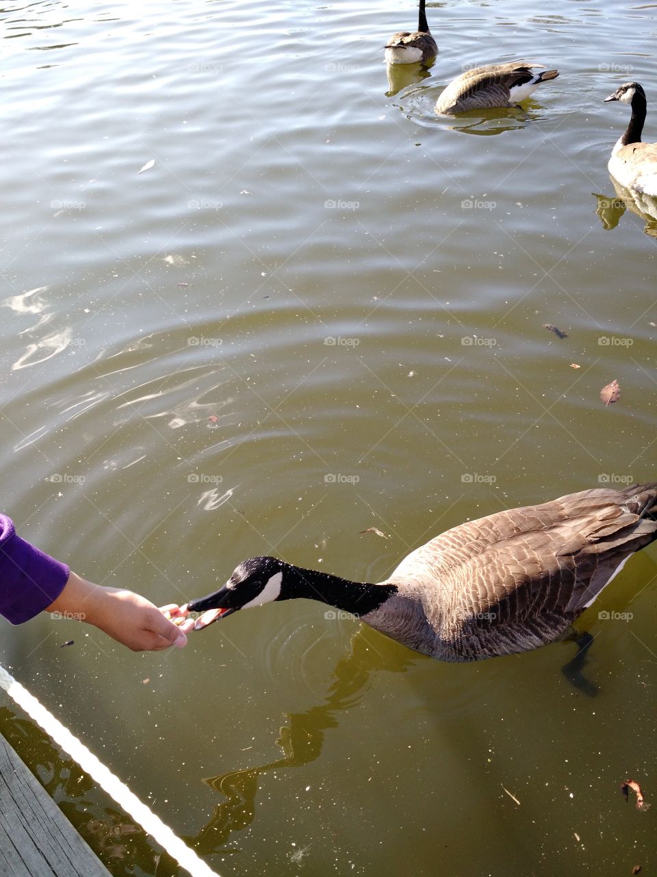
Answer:
<svg viewBox="0 0 657 877"><path fill-rule="evenodd" d="M397 592L395 585L375 585L366 581L350 581L339 575L321 573L316 569L288 566L286 588L279 599L306 597L335 606L336 609L361 616L378 609Z"/></svg>

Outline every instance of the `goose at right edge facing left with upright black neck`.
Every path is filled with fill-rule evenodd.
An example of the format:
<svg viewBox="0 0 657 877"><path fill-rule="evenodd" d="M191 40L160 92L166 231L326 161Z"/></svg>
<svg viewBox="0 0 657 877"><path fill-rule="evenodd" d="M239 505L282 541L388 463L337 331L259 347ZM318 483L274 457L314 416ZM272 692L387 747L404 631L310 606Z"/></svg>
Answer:
<svg viewBox="0 0 657 877"><path fill-rule="evenodd" d="M607 101L629 103L632 107L630 124L611 152L609 173L627 189L657 195L657 143L641 143L646 121L646 92L639 82L625 82L604 98L604 103Z"/></svg>

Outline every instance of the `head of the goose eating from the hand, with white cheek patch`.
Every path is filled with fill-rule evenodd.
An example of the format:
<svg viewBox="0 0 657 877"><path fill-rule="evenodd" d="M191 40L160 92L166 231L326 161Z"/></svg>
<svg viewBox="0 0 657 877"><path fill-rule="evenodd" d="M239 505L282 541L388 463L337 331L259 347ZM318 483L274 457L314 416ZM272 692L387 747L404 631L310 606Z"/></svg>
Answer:
<svg viewBox="0 0 657 877"><path fill-rule="evenodd" d="M196 628L207 627L218 618L225 618L240 609L285 599L283 577L286 567L286 563L274 557L243 560L223 588L187 603L188 611L204 613L197 619Z"/></svg>

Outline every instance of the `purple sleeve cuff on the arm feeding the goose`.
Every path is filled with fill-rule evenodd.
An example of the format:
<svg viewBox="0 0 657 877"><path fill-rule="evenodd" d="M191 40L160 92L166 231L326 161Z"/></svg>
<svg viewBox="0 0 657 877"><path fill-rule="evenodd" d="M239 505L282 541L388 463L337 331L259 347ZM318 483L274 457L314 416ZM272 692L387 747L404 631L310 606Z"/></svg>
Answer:
<svg viewBox="0 0 657 877"><path fill-rule="evenodd" d="M22 624L57 599L68 581L68 567L16 535L0 515L0 615Z"/></svg>

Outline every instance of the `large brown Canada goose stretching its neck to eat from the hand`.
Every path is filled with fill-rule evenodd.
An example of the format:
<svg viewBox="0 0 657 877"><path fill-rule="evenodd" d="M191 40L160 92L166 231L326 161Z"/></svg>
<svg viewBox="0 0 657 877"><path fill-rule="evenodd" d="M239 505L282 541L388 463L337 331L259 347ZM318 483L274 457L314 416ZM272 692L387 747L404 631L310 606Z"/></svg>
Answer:
<svg viewBox="0 0 657 877"><path fill-rule="evenodd" d="M378 584L244 560L223 588L180 612L194 626L273 600L308 597L449 661L527 652L563 638L630 555L657 538L657 483L595 488L461 524ZM326 617L336 617L336 612Z"/></svg>

